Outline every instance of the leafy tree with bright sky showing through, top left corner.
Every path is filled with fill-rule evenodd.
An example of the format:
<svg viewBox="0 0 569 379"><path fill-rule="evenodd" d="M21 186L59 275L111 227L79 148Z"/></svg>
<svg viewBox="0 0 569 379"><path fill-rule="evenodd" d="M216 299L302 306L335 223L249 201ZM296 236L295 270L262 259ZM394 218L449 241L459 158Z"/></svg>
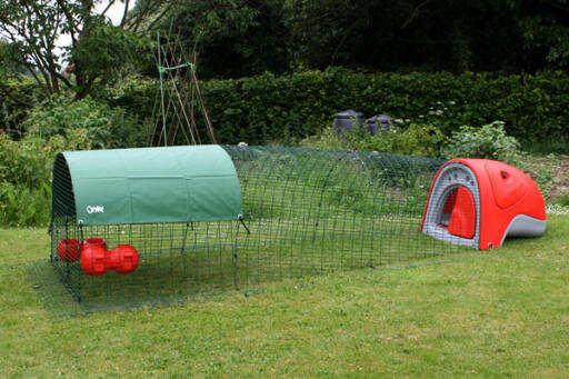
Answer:
<svg viewBox="0 0 569 379"><path fill-rule="evenodd" d="M112 26L106 14L118 4L123 16L119 26ZM14 66L23 67L46 97L70 89L82 99L98 84L114 80L144 46L137 34L141 24L152 24L169 9L159 0L140 0L132 11L129 7L129 0L0 1L0 36L9 42L0 49L0 60L9 63L0 68L0 90L29 102L2 80L17 74ZM69 44L58 47L64 37Z"/></svg>

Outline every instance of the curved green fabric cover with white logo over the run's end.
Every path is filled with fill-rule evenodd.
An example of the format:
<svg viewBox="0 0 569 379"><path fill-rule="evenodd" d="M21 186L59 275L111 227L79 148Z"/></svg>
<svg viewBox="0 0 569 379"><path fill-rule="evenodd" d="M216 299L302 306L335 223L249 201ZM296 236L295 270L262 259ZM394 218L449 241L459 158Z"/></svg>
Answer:
<svg viewBox="0 0 569 379"><path fill-rule="evenodd" d="M219 146L67 151L53 167L52 213L87 226L234 220L242 199Z"/></svg>

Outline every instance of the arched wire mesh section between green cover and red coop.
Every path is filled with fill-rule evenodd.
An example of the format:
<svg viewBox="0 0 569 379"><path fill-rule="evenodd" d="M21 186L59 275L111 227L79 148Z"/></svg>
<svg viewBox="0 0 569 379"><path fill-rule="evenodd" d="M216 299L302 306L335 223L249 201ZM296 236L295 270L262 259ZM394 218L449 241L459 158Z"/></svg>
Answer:
<svg viewBox="0 0 569 379"><path fill-rule="evenodd" d="M455 250L420 231L442 161L340 150L226 147L243 192L237 282L407 261Z"/></svg>

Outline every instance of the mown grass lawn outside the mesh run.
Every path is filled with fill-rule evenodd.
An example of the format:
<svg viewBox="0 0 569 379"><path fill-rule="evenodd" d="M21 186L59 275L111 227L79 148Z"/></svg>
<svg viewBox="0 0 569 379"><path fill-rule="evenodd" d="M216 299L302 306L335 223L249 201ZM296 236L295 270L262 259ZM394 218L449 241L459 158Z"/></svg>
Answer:
<svg viewBox="0 0 569 379"><path fill-rule="evenodd" d="M546 236L226 295L54 319L46 230L0 230L1 377L569 377L569 217Z"/></svg>

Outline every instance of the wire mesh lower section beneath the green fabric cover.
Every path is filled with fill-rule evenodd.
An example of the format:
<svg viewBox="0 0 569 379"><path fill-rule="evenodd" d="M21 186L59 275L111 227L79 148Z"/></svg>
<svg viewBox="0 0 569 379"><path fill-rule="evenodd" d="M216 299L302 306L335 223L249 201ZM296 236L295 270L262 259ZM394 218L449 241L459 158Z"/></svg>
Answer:
<svg viewBox="0 0 569 379"><path fill-rule="evenodd" d="M188 296L234 286L234 228L231 222L68 228L68 239L102 239L107 260L116 247L136 248L138 266L132 272L121 273L107 261L103 273L88 275L86 265L81 265L83 257L68 262L57 253L52 255L52 265L87 308L172 305ZM57 250L63 237L61 230L54 227L52 249Z"/></svg>

